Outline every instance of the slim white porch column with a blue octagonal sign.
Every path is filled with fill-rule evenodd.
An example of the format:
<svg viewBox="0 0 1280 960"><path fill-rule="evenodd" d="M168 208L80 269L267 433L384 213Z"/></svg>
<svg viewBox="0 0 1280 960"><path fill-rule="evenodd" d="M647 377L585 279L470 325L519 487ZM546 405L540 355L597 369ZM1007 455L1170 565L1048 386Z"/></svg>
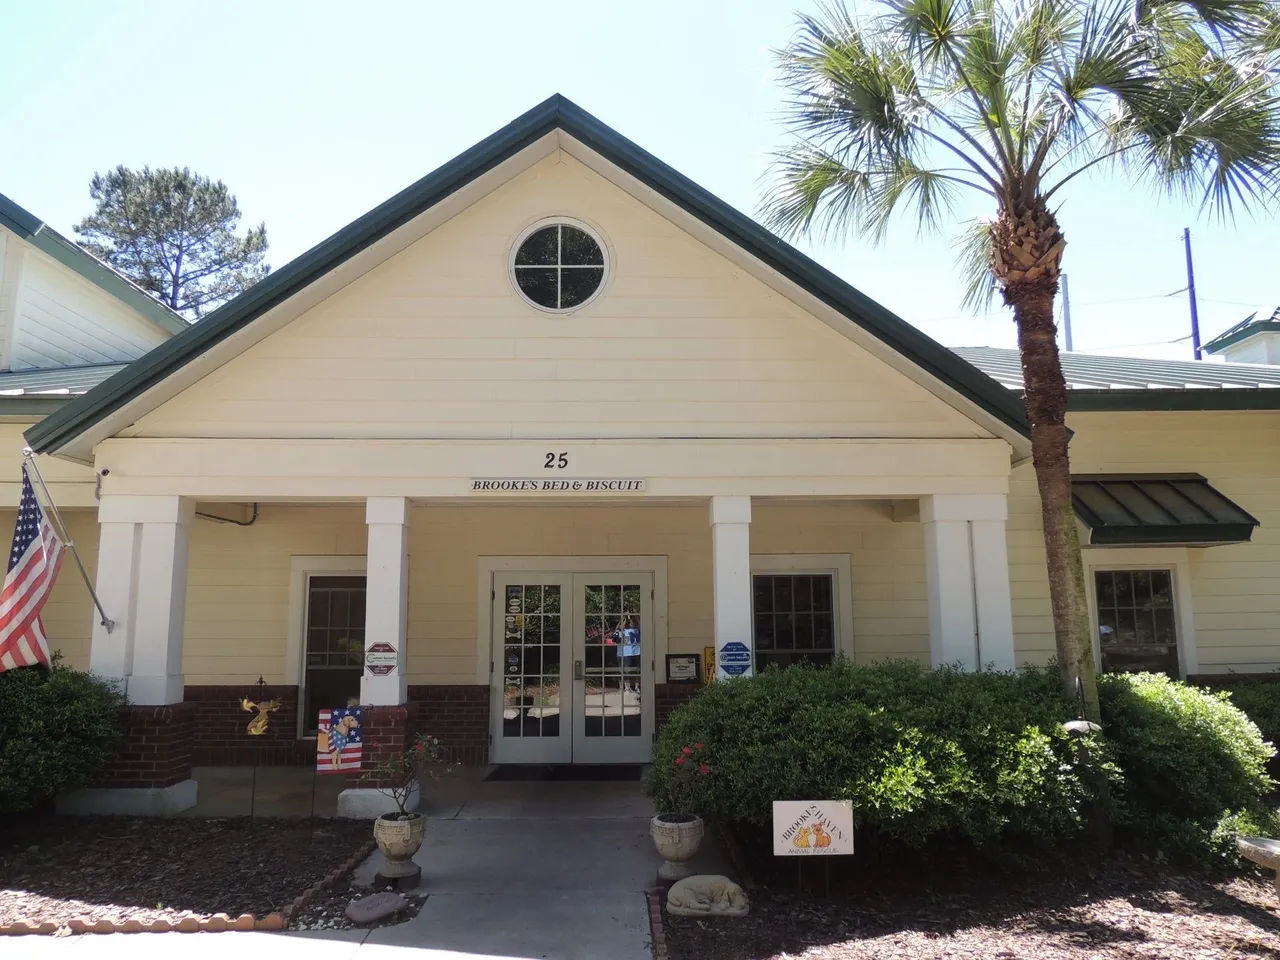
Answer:
<svg viewBox="0 0 1280 960"><path fill-rule="evenodd" d="M716 678L750 676L751 640L751 498L712 497L712 604L714 609ZM746 648L745 673L731 673L721 662L726 644ZM739 648L731 648L741 658Z"/></svg>

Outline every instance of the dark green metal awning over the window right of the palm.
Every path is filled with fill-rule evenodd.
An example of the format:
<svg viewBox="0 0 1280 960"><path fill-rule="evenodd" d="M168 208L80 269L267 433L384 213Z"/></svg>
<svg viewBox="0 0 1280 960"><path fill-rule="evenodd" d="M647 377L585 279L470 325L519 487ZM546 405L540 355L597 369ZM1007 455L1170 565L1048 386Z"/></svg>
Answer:
<svg viewBox="0 0 1280 960"><path fill-rule="evenodd" d="M1075 476L1071 503L1089 543L1112 547L1245 543L1258 525L1199 474Z"/></svg>

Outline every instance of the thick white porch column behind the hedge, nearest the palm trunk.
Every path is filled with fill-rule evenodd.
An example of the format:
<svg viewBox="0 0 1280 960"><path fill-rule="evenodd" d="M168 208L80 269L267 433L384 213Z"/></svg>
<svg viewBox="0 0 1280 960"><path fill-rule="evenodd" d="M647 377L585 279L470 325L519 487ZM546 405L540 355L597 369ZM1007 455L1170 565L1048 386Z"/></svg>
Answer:
<svg viewBox="0 0 1280 960"><path fill-rule="evenodd" d="M1005 539L1007 498L920 498L933 666L1012 669L1014 618Z"/></svg>

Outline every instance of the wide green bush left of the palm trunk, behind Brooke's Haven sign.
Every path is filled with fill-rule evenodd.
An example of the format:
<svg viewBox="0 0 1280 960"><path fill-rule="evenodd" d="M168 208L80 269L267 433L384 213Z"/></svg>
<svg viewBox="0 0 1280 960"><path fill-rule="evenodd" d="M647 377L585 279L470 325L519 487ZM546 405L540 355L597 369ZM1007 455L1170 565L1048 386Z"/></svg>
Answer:
<svg viewBox="0 0 1280 960"><path fill-rule="evenodd" d="M684 783L703 814L765 824L773 800L823 797L851 800L861 826L913 845L1055 841L1080 829L1089 797L1060 727L1073 709L1038 671L771 669L713 684L673 712L646 788L669 808L676 759L705 744L710 774Z"/></svg>

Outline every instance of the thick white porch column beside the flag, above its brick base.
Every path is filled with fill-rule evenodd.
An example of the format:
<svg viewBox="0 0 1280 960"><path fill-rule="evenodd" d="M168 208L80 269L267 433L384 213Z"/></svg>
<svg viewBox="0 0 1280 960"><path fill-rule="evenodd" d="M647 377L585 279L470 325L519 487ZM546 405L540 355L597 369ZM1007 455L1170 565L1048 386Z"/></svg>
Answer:
<svg viewBox="0 0 1280 960"><path fill-rule="evenodd" d="M97 591L110 632L95 611L90 668L123 680L129 703L182 703L187 544L195 503L183 497L106 497Z"/></svg>

